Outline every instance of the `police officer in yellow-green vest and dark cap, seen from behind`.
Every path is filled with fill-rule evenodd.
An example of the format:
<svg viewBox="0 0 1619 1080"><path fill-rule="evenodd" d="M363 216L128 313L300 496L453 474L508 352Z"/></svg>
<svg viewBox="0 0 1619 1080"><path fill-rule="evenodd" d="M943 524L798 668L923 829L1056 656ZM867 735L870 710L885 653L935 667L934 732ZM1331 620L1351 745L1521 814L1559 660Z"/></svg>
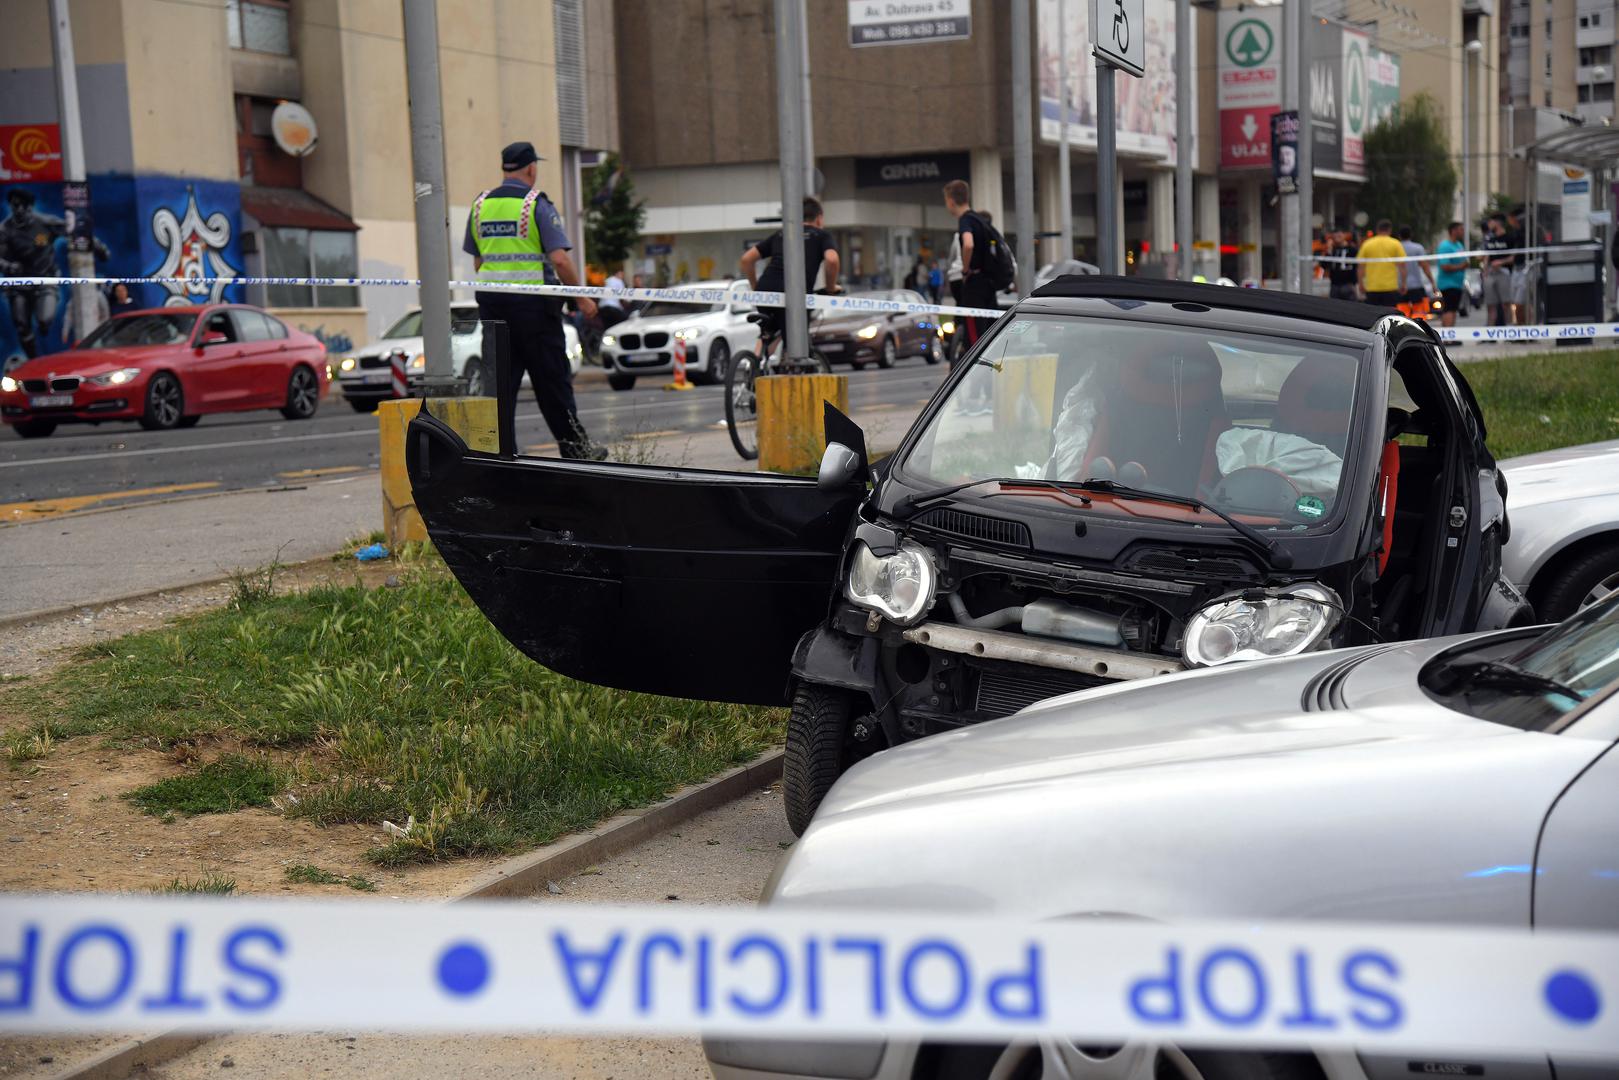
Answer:
<svg viewBox="0 0 1619 1080"><path fill-rule="evenodd" d="M461 248L473 256L479 282L580 283L580 272L568 254L568 235L562 232L562 215L546 193L534 188L538 162L533 142L505 147L500 151L505 181L473 202ZM596 314L596 301L580 296L575 303L586 317ZM593 445L584 434L573 403L573 376L562 337L562 300L479 291L478 317L505 322L510 330L512 355L500 385L508 416L516 411L523 372L528 372L534 400L562 457L606 458L607 450Z"/></svg>

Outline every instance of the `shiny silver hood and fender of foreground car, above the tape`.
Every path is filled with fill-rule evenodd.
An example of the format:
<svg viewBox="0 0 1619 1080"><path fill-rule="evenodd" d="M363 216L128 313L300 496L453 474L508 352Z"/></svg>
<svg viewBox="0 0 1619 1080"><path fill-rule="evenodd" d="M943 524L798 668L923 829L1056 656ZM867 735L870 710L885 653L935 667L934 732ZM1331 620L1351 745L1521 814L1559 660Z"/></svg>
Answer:
<svg viewBox="0 0 1619 1080"><path fill-rule="evenodd" d="M1523 925L1540 823L1601 745L1430 701L1438 648L1122 683L887 750L772 902Z"/></svg>

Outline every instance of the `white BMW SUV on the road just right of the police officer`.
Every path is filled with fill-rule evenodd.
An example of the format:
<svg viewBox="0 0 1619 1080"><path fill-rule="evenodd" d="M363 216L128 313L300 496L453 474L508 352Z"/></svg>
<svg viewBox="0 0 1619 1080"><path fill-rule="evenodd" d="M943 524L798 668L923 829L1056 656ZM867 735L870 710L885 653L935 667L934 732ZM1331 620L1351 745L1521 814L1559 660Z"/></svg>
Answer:
<svg viewBox="0 0 1619 1080"><path fill-rule="evenodd" d="M693 282L677 288L748 291L748 282ZM686 377L691 382L724 382L730 358L759 342L759 327L748 322L751 304L686 304L652 301L602 335L607 384L628 390L640 376L667 376L675 369L675 342L686 343Z"/></svg>

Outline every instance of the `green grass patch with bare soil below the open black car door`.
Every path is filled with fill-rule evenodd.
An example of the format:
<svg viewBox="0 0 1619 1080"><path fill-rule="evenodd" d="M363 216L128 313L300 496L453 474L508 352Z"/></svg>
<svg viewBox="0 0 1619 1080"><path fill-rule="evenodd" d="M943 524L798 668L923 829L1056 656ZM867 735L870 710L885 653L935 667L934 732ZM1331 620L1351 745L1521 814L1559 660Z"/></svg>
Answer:
<svg viewBox="0 0 1619 1080"><path fill-rule="evenodd" d="M780 711L563 678L513 649L436 555L403 555L400 588L253 596L97 643L50 680L6 688L6 701L36 724L50 717L58 742L223 740L296 758L287 814L414 819L374 852L380 865L546 844L780 742ZM222 767L131 798L157 814L206 813L225 792L246 806L288 790L290 774L267 764L256 785L202 779Z"/></svg>

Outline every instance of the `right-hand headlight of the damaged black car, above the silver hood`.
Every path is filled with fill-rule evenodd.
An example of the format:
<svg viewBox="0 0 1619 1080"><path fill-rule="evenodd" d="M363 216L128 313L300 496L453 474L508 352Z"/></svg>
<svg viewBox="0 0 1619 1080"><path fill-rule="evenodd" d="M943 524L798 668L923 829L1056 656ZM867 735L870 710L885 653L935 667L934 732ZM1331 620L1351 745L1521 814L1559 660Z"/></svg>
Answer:
<svg viewBox="0 0 1619 1080"><path fill-rule="evenodd" d="M1222 596L1187 623L1185 657L1196 667L1297 656L1321 644L1344 612L1324 585L1289 585Z"/></svg>

